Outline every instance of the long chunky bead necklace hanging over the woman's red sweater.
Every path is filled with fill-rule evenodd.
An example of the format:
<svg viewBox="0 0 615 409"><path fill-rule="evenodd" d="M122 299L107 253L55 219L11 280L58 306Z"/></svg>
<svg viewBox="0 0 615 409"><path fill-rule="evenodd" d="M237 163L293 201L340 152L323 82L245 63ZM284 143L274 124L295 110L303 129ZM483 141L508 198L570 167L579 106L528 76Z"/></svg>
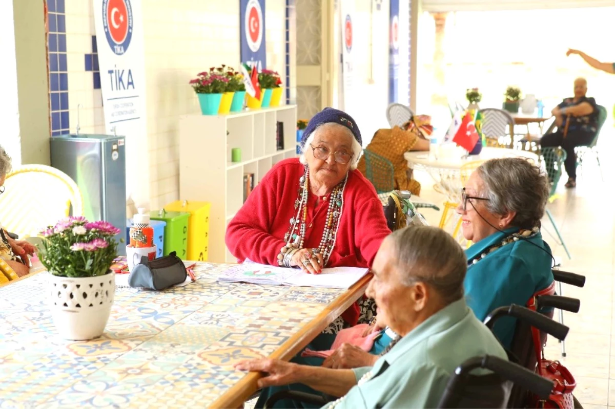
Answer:
<svg viewBox="0 0 615 409"><path fill-rule="evenodd" d="M323 267L327 265L329 256L335 247L335 240L341 219L342 210L344 208L344 188L348 181L348 174L344 181L333 188L329 195L329 206L327 208L327 217L325 218L325 230L322 232L322 238L318 246L320 254L322 254ZM298 198L295 200L296 214L290 219L290 228L284 235L286 241L286 249L282 248L282 253L292 247L303 249L303 244L306 235L306 225L308 224L308 197L309 197L309 168L305 167L303 176L299 179ZM280 265L282 262L279 261Z"/></svg>

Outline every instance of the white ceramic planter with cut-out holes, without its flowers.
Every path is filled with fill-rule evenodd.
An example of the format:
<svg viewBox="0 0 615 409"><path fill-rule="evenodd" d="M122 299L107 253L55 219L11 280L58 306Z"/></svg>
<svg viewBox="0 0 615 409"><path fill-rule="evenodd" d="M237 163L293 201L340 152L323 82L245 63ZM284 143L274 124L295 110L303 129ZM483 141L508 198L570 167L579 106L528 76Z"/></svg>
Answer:
<svg viewBox="0 0 615 409"><path fill-rule="evenodd" d="M49 275L50 308L60 337L91 340L102 335L115 295L115 274L97 277Z"/></svg>

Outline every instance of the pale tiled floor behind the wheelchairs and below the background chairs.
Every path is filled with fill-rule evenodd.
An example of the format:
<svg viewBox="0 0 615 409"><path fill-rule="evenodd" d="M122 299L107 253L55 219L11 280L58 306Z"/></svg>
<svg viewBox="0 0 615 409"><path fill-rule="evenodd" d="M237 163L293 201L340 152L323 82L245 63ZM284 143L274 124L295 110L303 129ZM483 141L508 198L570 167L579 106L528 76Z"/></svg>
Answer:
<svg viewBox="0 0 615 409"><path fill-rule="evenodd" d="M607 122L600 138L604 181L590 159L582 173L579 171L576 189L563 187L564 175L558 188L560 197L548 204L571 252L571 260L554 239L549 219L545 217L542 222L545 240L554 254L561 257L561 269L587 276L582 289L563 287L563 295L581 300L578 314L564 314L564 323L570 327L566 340L568 356L561 357L560 344L552 338L546 348L549 359L561 360L573 373L577 381L574 395L585 409L615 409L615 209L611 206L615 165L607 160L609 152L614 152L614 137L613 125ZM443 197L431 188L434 182L429 175L418 171L415 176L423 185L421 197L442 203ZM430 224L437 225L438 212L426 209L423 214ZM246 407L252 408L253 404Z"/></svg>

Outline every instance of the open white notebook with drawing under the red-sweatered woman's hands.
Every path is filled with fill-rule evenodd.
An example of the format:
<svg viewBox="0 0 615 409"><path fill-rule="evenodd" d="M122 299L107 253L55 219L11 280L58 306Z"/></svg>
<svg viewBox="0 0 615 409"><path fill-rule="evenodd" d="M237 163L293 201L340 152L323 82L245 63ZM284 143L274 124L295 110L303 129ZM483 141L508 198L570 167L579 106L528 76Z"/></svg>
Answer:
<svg viewBox="0 0 615 409"><path fill-rule="evenodd" d="M304 273L296 268L273 267L245 260L218 276L218 281L251 282L272 286L330 287L348 289L369 270L367 268L323 268L319 275Z"/></svg>

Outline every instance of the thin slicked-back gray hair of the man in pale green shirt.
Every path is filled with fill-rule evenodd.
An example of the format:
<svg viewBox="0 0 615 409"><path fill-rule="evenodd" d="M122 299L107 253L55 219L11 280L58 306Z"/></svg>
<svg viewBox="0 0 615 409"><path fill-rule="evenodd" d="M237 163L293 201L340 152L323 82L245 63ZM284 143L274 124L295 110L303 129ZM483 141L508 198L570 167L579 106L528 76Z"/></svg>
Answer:
<svg viewBox="0 0 615 409"><path fill-rule="evenodd" d="M446 305L464 296L467 259L453 236L438 227L410 226L395 230L386 240L392 241L403 284L425 282Z"/></svg>

